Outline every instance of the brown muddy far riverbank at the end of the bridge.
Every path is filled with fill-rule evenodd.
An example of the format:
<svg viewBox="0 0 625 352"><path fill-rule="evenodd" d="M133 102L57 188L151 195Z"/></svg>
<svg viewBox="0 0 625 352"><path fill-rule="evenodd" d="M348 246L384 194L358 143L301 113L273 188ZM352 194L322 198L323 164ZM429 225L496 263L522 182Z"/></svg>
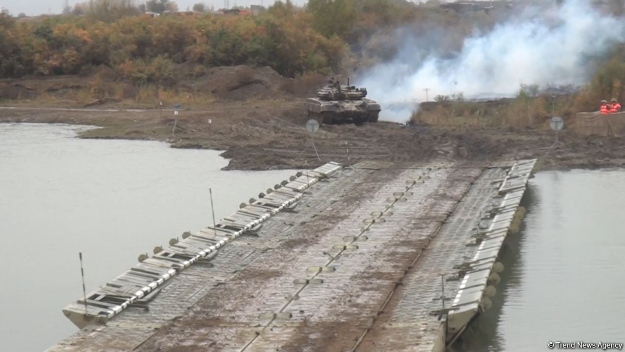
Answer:
<svg viewBox="0 0 625 352"><path fill-rule="evenodd" d="M567 130L560 133L562 143L551 150L554 133L550 130L449 130L378 122L360 126L324 125L311 135L304 128L307 117L303 101L293 96L217 101L203 110L191 107L191 110L180 111L177 121L173 111L158 109L1 108L0 122L96 125L102 128L85 132L81 137L162 140L176 148L224 150L222 155L231 159L226 168L237 170L315 167L329 160L356 163L433 158L487 163L507 158L544 157L542 169L625 165L625 141L581 137Z"/></svg>

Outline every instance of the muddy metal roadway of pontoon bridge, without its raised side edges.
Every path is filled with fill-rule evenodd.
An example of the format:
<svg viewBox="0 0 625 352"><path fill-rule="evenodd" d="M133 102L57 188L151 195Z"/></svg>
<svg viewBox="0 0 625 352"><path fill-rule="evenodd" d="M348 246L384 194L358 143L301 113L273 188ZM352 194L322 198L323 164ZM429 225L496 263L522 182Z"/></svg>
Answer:
<svg viewBox="0 0 625 352"><path fill-rule="evenodd" d="M440 274L449 308L462 285L454 266L474 257L466 244L492 225L484 215L511 165L344 168L257 236L181 271L149 311L128 308L50 350L440 349L446 314L430 314L442 308Z"/></svg>

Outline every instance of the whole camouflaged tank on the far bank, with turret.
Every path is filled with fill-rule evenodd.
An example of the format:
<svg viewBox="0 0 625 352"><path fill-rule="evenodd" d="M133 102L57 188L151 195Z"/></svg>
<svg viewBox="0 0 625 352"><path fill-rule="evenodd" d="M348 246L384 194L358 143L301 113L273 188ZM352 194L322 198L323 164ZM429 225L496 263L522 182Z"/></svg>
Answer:
<svg viewBox="0 0 625 352"><path fill-rule="evenodd" d="M333 79L329 84L317 91L316 98L307 98L304 106L308 112L308 118L313 118L324 123L356 124L364 122L377 122L380 113L380 105L367 96L366 88L341 85Z"/></svg>

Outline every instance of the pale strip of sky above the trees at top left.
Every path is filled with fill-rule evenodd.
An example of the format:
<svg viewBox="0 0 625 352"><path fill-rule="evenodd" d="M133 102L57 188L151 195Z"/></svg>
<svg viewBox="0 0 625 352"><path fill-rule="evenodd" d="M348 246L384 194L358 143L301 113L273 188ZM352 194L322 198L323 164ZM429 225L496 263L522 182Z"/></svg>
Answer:
<svg viewBox="0 0 625 352"><path fill-rule="evenodd" d="M75 3L83 3L87 0L69 0L69 6L73 7ZM215 9L224 8L224 0L174 0L178 4L178 8L185 10L187 6L189 9L193 7L193 4L204 3L207 6L214 6ZM274 3L275 0L229 0L230 6L249 6L260 5L269 6ZM286 1L286 0L285 0ZM143 3L144 1L136 0L137 3ZM307 0L292 0L293 4L303 5L307 3ZM9 1L0 0L0 8L6 8L13 15L19 13L25 13L27 16L36 16L39 14L47 13L61 13L63 11L64 0L21 0L21 1Z"/></svg>

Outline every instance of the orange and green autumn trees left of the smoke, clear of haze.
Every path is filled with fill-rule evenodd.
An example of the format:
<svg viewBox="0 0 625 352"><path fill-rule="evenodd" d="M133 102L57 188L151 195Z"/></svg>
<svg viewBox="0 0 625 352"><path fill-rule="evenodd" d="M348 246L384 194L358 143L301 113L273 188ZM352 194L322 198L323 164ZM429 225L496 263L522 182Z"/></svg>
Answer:
<svg viewBox="0 0 625 352"><path fill-rule="evenodd" d="M166 81L173 65L187 61L271 66L285 76L329 73L349 53L347 40L358 21L368 26L394 16L388 4L311 0L297 8L287 0L257 16L176 13L168 0L139 6L133 0L90 0L66 6L64 15L26 20L2 11L0 78L71 75L107 65L138 83Z"/></svg>

